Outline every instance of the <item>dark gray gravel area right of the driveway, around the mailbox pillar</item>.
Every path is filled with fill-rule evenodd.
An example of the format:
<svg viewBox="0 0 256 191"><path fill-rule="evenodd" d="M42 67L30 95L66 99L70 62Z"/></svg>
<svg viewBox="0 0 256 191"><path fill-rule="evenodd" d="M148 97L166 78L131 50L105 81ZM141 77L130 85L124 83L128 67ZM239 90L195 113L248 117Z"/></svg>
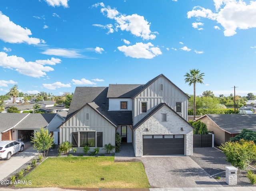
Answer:
<svg viewBox="0 0 256 191"><path fill-rule="evenodd" d="M228 187L231 185L228 185L226 183L226 171L225 166L232 166L230 163L228 163L225 158L226 155L222 153L217 148L194 148L194 154L191 156L200 167L202 167L210 176L212 177L220 177L220 179L216 179L222 186ZM251 169L256 173L255 169L252 167L248 167L248 169ZM246 170L240 171L240 173L237 176L237 185L236 186L256 186L252 185L249 181L249 179L246 177Z"/></svg>

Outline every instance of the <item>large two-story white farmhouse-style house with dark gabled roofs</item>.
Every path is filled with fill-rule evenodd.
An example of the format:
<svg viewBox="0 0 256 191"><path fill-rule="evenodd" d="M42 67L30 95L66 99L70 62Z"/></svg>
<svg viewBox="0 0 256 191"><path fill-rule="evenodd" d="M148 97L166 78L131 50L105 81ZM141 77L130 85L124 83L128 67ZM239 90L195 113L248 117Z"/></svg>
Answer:
<svg viewBox="0 0 256 191"><path fill-rule="evenodd" d="M60 143L69 141L77 152L89 145L105 152L115 145L115 133L132 143L135 156L193 154L193 127L187 122L188 98L164 75L144 85L110 84L76 87Z"/></svg>

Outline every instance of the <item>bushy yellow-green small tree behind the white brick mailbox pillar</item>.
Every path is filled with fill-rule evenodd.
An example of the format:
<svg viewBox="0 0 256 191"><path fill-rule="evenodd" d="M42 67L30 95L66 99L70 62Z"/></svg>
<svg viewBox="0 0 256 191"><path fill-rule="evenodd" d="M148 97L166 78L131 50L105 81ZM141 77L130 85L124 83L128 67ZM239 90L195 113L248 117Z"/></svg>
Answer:
<svg viewBox="0 0 256 191"><path fill-rule="evenodd" d="M244 170L253 160L256 159L256 146L253 141L241 139L239 142L226 142L219 148L226 154L226 160L234 167Z"/></svg>

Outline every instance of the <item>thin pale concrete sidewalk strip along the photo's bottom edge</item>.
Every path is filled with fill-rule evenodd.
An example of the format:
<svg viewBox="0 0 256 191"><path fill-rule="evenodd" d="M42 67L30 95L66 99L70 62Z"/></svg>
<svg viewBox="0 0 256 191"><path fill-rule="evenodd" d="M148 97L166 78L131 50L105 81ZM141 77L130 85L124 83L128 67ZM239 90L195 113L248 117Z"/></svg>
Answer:
<svg viewBox="0 0 256 191"><path fill-rule="evenodd" d="M202 188L10 188L0 191L256 191L256 187L202 187Z"/></svg>

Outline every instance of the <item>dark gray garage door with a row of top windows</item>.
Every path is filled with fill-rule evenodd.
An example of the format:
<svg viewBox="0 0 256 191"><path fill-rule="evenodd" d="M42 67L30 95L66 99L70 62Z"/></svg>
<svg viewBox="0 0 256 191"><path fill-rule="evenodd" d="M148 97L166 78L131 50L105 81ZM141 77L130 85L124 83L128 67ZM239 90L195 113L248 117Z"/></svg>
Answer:
<svg viewBox="0 0 256 191"><path fill-rule="evenodd" d="M143 155L184 155L184 135L143 135Z"/></svg>

